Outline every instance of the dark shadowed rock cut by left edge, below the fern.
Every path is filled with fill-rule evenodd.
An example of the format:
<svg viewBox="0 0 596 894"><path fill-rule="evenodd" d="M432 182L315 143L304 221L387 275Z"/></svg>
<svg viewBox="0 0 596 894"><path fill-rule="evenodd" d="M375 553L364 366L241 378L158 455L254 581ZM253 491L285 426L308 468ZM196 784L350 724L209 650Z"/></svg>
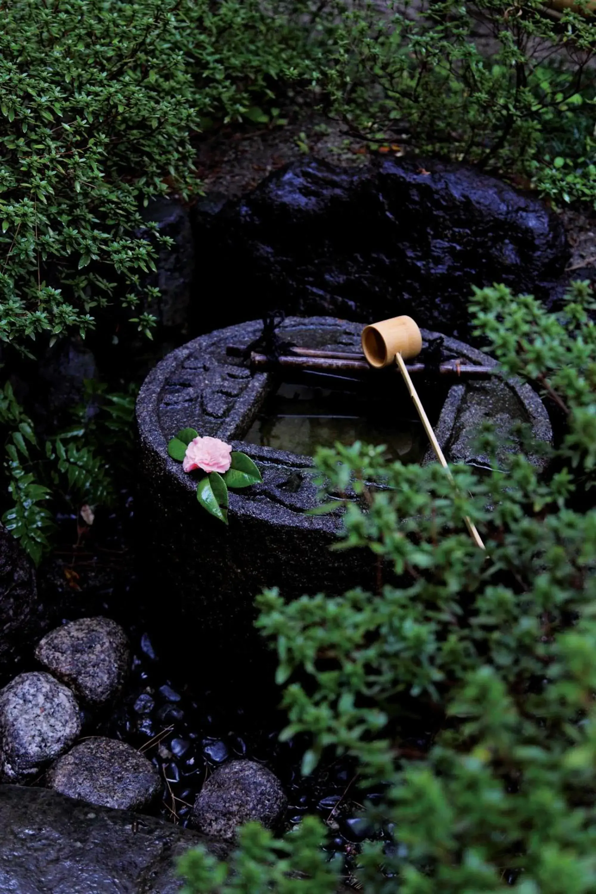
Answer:
<svg viewBox="0 0 596 894"><path fill-rule="evenodd" d="M33 565L0 525L0 675L10 672L30 645L39 610Z"/></svg>

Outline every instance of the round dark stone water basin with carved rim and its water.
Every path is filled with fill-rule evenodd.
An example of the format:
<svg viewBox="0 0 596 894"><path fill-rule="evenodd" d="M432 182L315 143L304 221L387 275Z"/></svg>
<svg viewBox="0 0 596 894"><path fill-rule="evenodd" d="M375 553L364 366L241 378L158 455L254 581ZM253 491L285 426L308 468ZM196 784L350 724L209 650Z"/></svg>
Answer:
<svg viewBox="0 0 596 894"><path fill-rule="evenodd" d="M290 317L278 334L305 347L354 351L359 350L361 328L330 317ZM207 650L253 642L253 602L266 587L279 586L289 598L336 594L353 586L374 588L375 565L368 552L329 552L340 513L306 514L316 505L309 471L315 442L331 444L337 438L352 443L368 434L374 443L387 443L395 458L432 460L394 370L374 374L373 389L354 383L314 384L312 377L291 381L279 371L252 372L240 358L228 356L226 348L248 345L261 330L262 323L255 321L189 342L155 367L139 393L147 580L175 597L177 624ZM424 345L437 337L422 333ZM464 342L445 337L442 361L452 358L494 364ZM523 420L534 437L550 441L548 415L528 385L497 378L466 384L440 378L420 382L419 388L449 461L487 464L471 440L483 418L501 429ZM230 493L229 527L200 509L195 476L186 475L167 454L168 440L185 426L232 443L261 470L263 484Z"/></svg>

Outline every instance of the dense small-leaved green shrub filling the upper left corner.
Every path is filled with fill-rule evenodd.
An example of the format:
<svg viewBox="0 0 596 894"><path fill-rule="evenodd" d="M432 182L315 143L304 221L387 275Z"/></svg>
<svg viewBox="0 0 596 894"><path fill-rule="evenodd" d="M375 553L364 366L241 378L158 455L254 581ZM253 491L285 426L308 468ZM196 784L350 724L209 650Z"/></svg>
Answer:
<svg viewBox="0 0 596 894"><path fill-rule="evenodd" d="M4 2L1 340L32 350L38 333L84 334L110 302L149 333L156 246L139 231L155 227L140 209L198 189L190 137L209 118L264 120L288 82L313 79L323 38L307 8Z"/></svg>

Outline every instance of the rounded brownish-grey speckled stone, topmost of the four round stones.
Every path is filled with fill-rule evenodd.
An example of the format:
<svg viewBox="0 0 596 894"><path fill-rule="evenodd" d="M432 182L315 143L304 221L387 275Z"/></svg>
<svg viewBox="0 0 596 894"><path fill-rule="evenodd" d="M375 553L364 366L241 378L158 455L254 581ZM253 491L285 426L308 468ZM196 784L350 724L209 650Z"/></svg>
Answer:
<svg viewBox="0 0 596 894"><path fill-rule="evenodd" d="M38 662L92 705L105 704L122 688L130 647L109 618L80 618L51 630L35 650Z"/></svg>

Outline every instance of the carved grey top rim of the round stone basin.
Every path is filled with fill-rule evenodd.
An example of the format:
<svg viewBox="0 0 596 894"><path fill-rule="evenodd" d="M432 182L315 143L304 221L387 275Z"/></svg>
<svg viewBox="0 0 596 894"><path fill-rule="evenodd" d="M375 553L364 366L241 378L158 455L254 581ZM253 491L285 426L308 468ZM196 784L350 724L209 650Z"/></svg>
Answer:
<svg viewBox="0 0 596 894"><path fill-rule="evenodd" d="M293 526L305 524L327 531L337 529L338 519L305 516L316 504L316 489L310 475L312 457L290 451L245 443L241 440L262 407L265 398L279 383L279 374L251 372L239 358L226 356L228 344L248 344L262 329L261 321L235 325L201 336L172 351L147 377L139 393L138 418L145 450L167 469L184 491L194 493L196 480L186 475L180 463L167 454L167 442L180 428L192 426L232 443L246 452L262 469L264 483L249 491L230 494L230 514L249 515L264 521ZM289 342L308 347L359 350L362 326L332 317L289 317L279 333ZM423 330L424 343L437 336ZM443 359L461 358L465 363L495 366L495 361L464 342L445 337ZM454 384L436 425L442 449L450 461L482 465L466 455L469 426L482 404L484 417L499 417L503 398L513 401L517 417L533 427L534 437L550 442L548 414L533 389L518 381L496 384ZM495 391L497 389L497 391ZM497 393L499 391L499 394ZM500 395L500 396L499 396ZM475 416L474 416L475 414ZM458 420L460 421L457 430ZM424 461L432 457L427 454ZM173 483L173 482L172 482ZM298 520L299 519L299 520Z"/></svg>

